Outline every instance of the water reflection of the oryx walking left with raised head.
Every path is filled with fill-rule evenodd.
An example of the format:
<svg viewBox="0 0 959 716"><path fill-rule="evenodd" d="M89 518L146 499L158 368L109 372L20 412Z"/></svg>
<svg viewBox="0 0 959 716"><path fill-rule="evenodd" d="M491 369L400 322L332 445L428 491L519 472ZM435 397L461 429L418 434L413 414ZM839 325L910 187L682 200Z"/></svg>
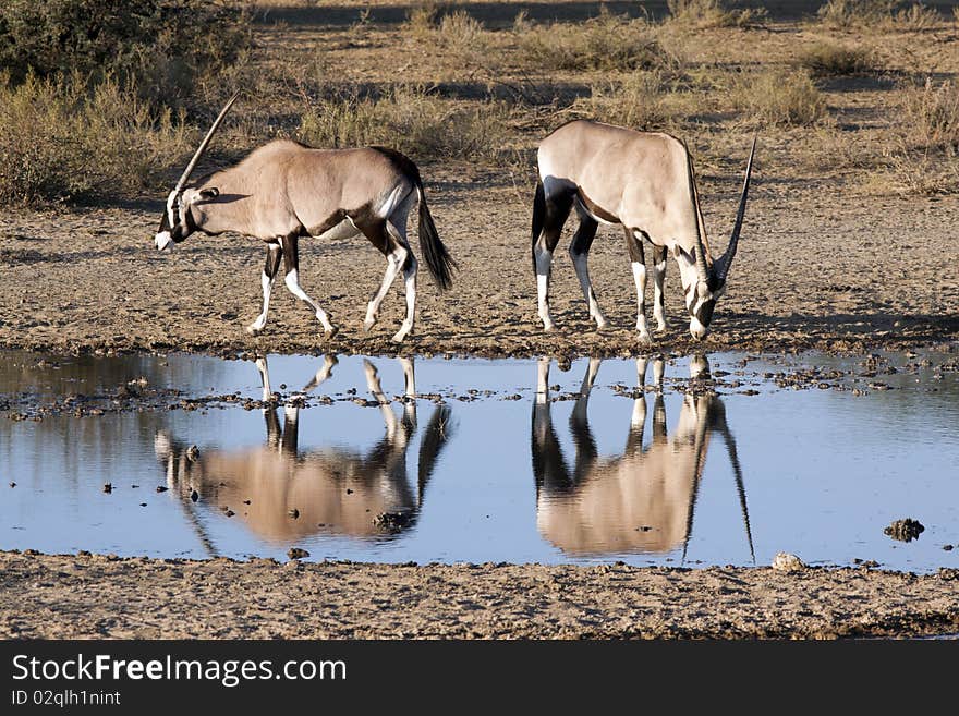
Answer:
<svg viewBox="0 0 959 716"><path fill-rule="evenodd" d="M397 359L405 376L402 415L397 415L380 387L377 368L364 360L366 387L379 403L386 426L383 438L366 451L329 446L301 451L299 417L304 397L330 377L337 359L323 367L283 405L263 410L266 444L236 450L202 449L167 433L156 437L157 458L167 484L177 490L195 519L196 500L229 510L257 536L274 543L327 533L352 537L389 537L412 526L440 450L451 436L450 409L437 405L420 444L417 482L410 484L406 451L417 427L413 362ZM266 360L257 360L265 401L274 398ZM324 409L318 409L324 410ZM196 492L194 496L193 493ZM196 498L195 500L193 498ZM201 527L201 539L208 543ZM210 551L211 545L206 544Z"/></svg>

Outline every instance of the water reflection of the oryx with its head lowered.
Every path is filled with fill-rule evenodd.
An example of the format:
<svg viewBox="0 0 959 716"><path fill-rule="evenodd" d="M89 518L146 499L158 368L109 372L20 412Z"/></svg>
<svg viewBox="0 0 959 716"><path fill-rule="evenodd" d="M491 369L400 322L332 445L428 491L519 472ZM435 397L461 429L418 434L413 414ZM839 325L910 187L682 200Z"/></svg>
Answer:
<svg viewBox="0 0 959 716"><path fill-rule="evenodd" d="M619 457L600 458L587 414L600 361L591 359L569 421L575 448L570 465L553 426L549 363L549 359L538 362L531 434L536 522L543 536L563 551L578 555L667 553L682 547L685 559L706 452L713 434L718 433L732 463L750 554L755 561L736 441L726 423L726 409L716 395L688 391L677 426L668 436L661 391L664 362L655 360L653 436L644 447L647 360L638 359L638 397L626 448ZM690 373L693 378L708 375L705 357L694 357Z"/></svg>

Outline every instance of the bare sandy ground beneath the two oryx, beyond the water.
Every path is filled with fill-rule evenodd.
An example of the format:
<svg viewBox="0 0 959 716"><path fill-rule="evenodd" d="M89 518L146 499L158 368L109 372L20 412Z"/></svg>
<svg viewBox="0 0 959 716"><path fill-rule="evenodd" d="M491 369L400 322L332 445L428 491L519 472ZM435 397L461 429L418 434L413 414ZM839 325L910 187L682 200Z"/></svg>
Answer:
<svg viewBox="0 0 959 716"><path fill-rule="evenodd" d="M603 229L591 252L596 294L611 327L600 332L591 325L565 240L554 262L557 330L545 333L536 317L527 192L490 180L437 181L436 173L427 192L460 270L452 290L440 294L423 269L417 325L400 347L403 353L861 351L959 336L959 315L950 310L959 305L959 274L951 268L956 197L837 206L824 191L781 196L758 175L713 332L703 343L689 337L672 264L666 286L671 323L648 347L634 330L635 287L618 231ZM735 182L729 184L725 189L731 192L714 190L703 199L714 236L731 224L737 196ZM390 337L402 320L401 281L379 324L362 331L366 301L385 268L365 240L301 244L301 282L331 314L338 336L325 340L312 312L278 282L266 330L252 337L244 327L260 308L259 242L195 234L173 253L159 254L151 241L159 216L159 205L0 216L0 345L61 352L397 352ZM714 243L724 246L725 239ZM647 290L652 320L652 286Z"/></svg>

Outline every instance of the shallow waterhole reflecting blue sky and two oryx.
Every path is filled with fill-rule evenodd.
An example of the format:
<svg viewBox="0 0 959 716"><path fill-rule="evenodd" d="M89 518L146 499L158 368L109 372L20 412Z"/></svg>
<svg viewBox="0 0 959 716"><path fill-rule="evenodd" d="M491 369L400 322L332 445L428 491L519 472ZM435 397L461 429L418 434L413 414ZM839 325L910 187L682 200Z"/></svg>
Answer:
<svg viewBox="0 0 959 716"><path fill-rule="evenodd" d="M0 548L932 572L957 364L7 351Z"/></svg>

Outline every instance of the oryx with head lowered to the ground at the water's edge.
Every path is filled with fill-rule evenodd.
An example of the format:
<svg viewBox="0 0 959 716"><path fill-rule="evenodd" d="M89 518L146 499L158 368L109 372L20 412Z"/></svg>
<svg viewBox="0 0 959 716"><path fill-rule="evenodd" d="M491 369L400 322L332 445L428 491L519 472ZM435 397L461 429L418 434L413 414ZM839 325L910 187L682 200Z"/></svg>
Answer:
<svg viewBox="0 0 959 716"><path fill-rule="evenodd" d="M599 223L620 224L636 282L640 339L650 340L643 239L654 247L653 315L657 330L666 328L663 283L668 250L679 265L690 332L693 338L704 338L736 255L755 149L753 139L732 235L726 253L714 260L700 210L692 158L683 142L668 134L586 120L563 124L547 136L539 145L539 181L533 204L533 268L544 328L549 330L554 326L549 316L553 252L570 210L575 207L580 226L569 252L590 306L590 318L599 328L606 326L586 268L590 245Z"/></svg>

